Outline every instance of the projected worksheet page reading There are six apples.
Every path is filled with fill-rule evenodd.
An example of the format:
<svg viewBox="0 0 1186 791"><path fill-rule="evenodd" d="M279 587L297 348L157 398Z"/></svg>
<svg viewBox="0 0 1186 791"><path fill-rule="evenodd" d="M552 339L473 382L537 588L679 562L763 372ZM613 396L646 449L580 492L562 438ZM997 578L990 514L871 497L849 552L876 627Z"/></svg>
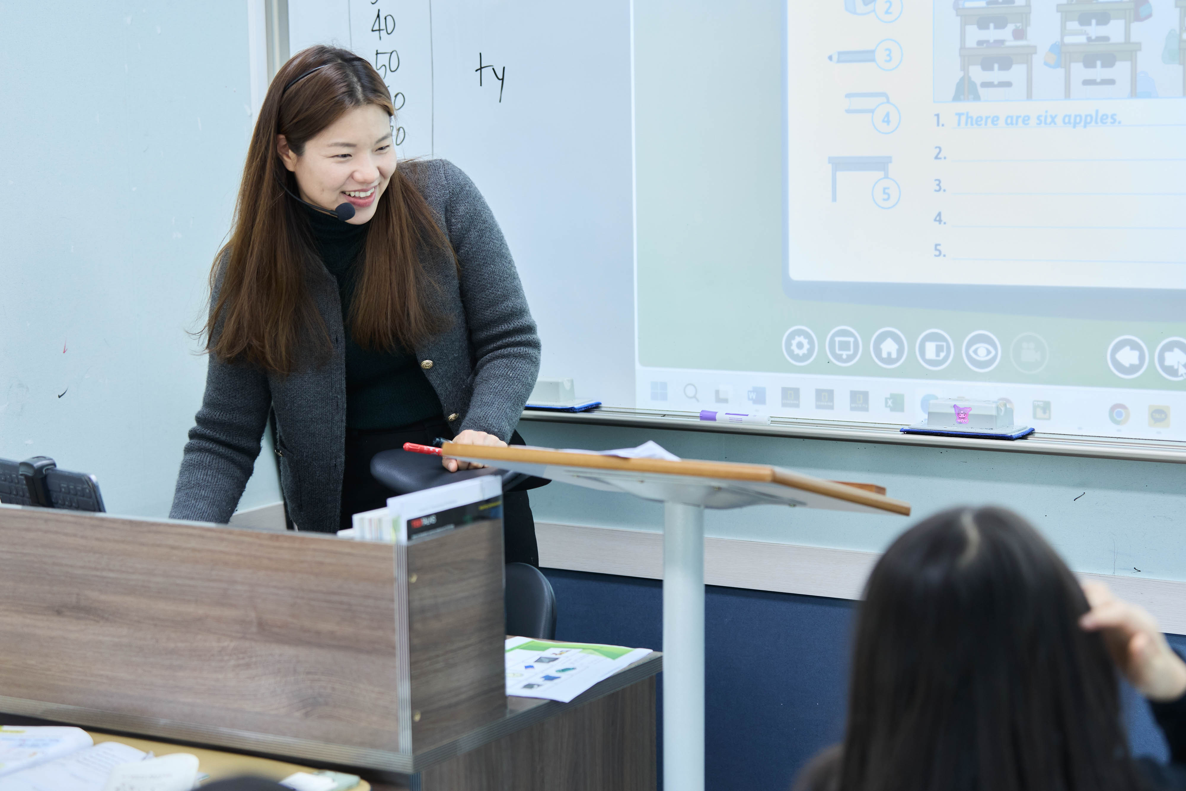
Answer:
<svg viewBox="0 0 1186 791"><path fill-rule="evenodd" d="M789 6L789 278L1186 288L1186 2L905 5Z"/></svg>

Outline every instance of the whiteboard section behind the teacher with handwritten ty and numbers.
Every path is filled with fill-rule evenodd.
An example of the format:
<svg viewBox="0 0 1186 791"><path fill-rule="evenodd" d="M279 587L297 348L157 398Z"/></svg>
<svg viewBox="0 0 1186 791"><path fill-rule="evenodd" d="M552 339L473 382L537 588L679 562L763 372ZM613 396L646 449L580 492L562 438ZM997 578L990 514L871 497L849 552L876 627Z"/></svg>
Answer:
<svg viewBox="0 0 1186 791"><path fill-rule="evenodd" d="M490 203L540 327L540 376L632 403L630 4L289 0L288 31L291 52L351 49L408 108L431 108L396 113L398 152L452 160Z"/></svg>

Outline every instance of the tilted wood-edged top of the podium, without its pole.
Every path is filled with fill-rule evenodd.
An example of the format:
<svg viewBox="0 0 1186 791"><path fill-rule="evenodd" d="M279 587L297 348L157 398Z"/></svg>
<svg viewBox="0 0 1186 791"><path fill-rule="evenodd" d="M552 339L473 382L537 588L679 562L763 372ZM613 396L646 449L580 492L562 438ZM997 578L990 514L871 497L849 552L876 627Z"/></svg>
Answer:
<svg viewBox="0 0 1186 791"><path fill-rule="evenodd" d="M880 486L824 480L764 464L626 459L553 448L491 447L457 442L446 442L441 452L452 459L514 470L575 486L623 491L644 499L704 508L784 504L837 511L888 511L910 516L910 503L886 497Z"/></svg>

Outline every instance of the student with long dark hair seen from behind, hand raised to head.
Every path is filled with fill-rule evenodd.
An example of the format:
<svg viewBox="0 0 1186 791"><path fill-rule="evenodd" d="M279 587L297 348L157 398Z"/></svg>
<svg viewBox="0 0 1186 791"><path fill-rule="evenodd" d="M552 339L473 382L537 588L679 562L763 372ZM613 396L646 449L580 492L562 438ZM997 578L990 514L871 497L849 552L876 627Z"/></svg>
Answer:
<svg viewBox="0 0 1186 791"><path fill-rule="evenodd" d="M1169 766L1129 755L1117 668L1153 702ZM1080 587L1012 511L944 511L869 575L844 740L795 789L1186 789L1184 693L1186 663L1149 613Z"/></svg>

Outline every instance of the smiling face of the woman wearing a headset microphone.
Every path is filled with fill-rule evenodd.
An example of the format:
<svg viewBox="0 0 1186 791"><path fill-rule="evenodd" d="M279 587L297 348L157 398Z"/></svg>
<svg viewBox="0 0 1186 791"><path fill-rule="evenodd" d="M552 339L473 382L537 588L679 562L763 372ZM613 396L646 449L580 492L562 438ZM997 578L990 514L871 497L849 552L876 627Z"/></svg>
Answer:
<svg viewBox="0 0 1186 791"><path fill-rule="evenodd" d="M395 173L391 117L377 104L347 110L311 138L300 155L288 147L285 135L276 135L276 151L296 177L302 200L331 212L350 203L355 216L346 222L353 225L375 216Z"/></svg>

